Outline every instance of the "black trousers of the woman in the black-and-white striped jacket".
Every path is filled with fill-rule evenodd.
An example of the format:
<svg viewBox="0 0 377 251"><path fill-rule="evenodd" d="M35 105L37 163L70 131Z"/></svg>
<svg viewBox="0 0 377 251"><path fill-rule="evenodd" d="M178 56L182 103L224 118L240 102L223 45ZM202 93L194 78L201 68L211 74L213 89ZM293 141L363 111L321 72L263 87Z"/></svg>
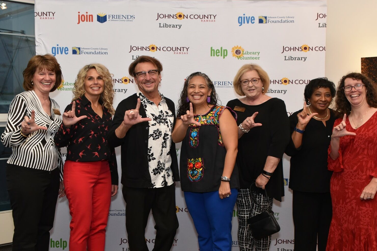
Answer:
<svg viewBox="0 0 377 251"><path fill-rule="evenodd" d="M13 251L48 251L59 190L59 168L44 171L7 164L14 222Z"/></svg>

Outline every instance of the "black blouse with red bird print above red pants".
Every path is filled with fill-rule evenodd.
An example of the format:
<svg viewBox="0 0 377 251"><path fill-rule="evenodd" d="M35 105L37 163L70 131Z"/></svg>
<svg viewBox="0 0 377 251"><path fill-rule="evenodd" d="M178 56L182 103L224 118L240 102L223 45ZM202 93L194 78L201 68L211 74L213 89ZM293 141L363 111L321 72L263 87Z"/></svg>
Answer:
<svg viewBox="0 0 377 251"><path fill-rule="evenodd" d="M73 126L67 128L61 123L54 141L58 147L67 147L66 161L94 162L109 161L111 184L118 185L118 167L115 150L107 144L107 134L112 125L111 113L102 106L102 118L93 111L90 101L81 96L75 100L77 117L86 115ZM102 102L100 101L102 105ZM72 109L70 103L64 112Z"/></svg>

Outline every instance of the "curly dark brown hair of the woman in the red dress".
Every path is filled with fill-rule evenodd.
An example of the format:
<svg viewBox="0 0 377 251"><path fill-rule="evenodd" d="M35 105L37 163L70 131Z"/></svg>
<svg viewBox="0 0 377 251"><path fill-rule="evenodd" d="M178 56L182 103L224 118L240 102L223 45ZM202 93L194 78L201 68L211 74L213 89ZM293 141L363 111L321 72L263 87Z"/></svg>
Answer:
<svg viewBox="0 0 377 251"><path fill-rule="evenodd" d="M361 80L366 88L366 102L370 107L377 108L377 90L376 84L373 83L368 77L361 73L351 72L343 76L339 81L338 89L336 92L335 109L341 114L349 115L351 113L351 104L349 103L346 95L344 94L344 81L346 78L353 80Z"/></svg>

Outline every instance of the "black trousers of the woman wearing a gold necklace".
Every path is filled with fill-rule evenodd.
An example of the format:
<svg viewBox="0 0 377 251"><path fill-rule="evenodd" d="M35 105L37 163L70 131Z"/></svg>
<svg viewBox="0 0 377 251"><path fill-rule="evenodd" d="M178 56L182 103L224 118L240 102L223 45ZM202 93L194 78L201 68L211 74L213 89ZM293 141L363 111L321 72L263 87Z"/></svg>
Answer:
<svg viewBox="0 0 377 251"><path fill-rule="evenodd" d="M326 250L333 216L330 193L293 191L294 250Z"/></svg>

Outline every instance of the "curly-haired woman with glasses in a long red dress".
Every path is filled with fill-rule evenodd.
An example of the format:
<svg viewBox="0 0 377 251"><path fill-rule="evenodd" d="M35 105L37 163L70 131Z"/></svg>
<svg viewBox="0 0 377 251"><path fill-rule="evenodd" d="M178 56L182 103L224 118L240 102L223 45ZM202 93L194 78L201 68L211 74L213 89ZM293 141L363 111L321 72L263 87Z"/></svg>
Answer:
<svg viewBox="0 0 377 251"><path fill-rule="evenodd" d="M326 250L376 250L377 90L360 73L340 81L328 169L333 219Z"/></svg>

